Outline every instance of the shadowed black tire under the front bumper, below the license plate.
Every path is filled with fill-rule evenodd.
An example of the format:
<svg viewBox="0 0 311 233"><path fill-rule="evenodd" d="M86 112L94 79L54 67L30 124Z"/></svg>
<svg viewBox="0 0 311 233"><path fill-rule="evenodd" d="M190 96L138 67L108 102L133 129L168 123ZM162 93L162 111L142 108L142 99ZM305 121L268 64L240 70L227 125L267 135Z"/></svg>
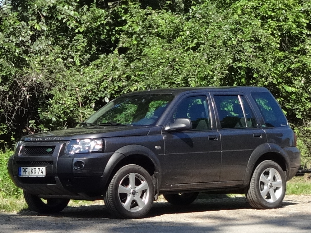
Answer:
<svg viewBox="0 0 311 233"><path fill-rule="evenodd" d="M46 203L24 190L24 198L30 210L38 213L58 213L67 207L69 199L47 198Z"/></svg>

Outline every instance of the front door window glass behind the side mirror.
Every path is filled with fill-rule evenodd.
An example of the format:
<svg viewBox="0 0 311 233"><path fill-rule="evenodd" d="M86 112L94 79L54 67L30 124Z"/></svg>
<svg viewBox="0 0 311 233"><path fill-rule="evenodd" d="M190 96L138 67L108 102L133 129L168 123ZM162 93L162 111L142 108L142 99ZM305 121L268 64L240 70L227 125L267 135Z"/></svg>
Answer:
<svg viewBox="0 0 311 233"><path fill-rule="evenodd" d="M210 130L211 118L206 96L185 98L174 111L172 121L177 118L189 118L192 130Z"/></svg>

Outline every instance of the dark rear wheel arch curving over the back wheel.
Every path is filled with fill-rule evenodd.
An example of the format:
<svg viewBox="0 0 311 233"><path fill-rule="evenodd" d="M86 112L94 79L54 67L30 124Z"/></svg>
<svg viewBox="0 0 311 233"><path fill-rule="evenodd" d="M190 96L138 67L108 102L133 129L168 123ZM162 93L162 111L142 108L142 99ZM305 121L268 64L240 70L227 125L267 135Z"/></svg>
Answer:
<svg viewBox="0 0 311 233"><path fill-rule="evenodd" d="M290 163L286 152L277 144L265 143L258 146L251 154L244 175L245 181L248 182L251 179L255 168L264 160L272 160L279 164L282 170L285 171L287 180Z"/></svg>

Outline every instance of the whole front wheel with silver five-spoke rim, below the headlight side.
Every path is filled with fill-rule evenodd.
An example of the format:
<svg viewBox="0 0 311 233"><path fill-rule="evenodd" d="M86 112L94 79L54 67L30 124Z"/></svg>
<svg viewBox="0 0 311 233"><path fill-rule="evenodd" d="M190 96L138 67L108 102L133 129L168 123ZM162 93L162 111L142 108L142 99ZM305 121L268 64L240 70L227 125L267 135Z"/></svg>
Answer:
<svg viewBox="0 0 311 233"><path fill-rule="evenodd" d="M114 174L104 197L108 211L119 219L144 217L150 211L153 200L151 176L135 164L121 167Z"/></svg>

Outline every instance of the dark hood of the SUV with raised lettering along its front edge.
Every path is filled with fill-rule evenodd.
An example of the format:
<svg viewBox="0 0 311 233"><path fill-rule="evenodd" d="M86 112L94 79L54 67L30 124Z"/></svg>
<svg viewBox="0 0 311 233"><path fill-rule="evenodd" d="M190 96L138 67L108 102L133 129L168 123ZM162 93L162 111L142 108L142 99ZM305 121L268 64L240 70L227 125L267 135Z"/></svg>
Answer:
<svg viewBox="0 0 311 233"><path fill-rule="evenodd" d="M55 130L45 133L27 135L24 141L68 141L83 138L104 138L147 135L150 127L144 126L87 126L66 130Z"/></svg>

